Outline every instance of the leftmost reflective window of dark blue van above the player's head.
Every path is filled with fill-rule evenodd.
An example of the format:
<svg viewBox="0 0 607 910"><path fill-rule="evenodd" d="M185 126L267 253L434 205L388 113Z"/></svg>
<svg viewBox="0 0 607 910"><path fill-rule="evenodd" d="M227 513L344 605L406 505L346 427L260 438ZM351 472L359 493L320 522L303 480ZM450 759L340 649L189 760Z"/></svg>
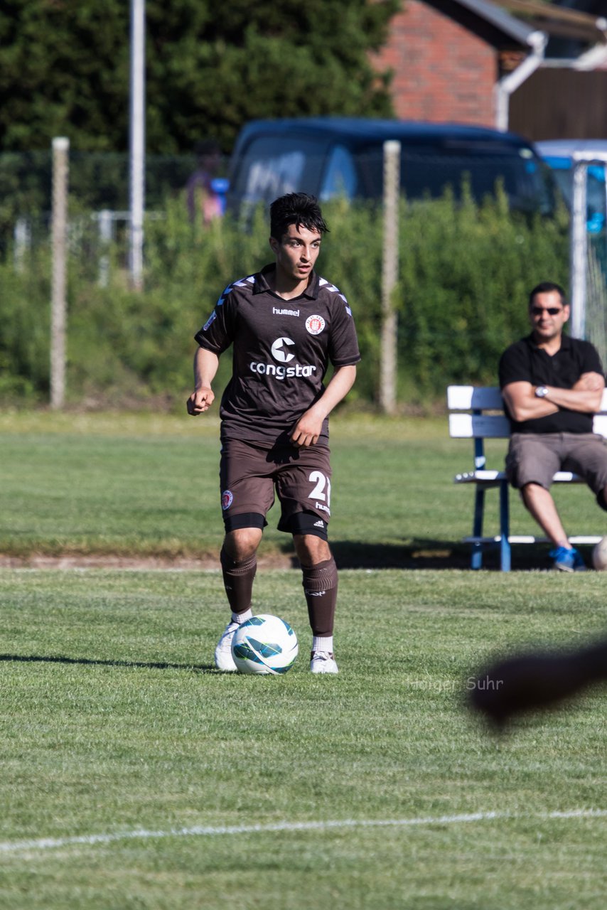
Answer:
<svg viewBox="0 0 607 910"><path fill-rule="evenodd" d="M316 187L326 144L297 136L259 136L246 148L230 187L244 202L272 202L302 187ZM314 190L309 190L315 192Z"/></svg>

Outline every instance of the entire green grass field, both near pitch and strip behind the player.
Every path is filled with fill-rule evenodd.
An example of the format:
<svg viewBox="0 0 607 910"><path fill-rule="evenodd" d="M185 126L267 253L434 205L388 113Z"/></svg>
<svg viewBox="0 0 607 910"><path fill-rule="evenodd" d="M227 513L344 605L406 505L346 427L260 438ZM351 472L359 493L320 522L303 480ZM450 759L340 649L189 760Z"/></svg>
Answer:
<svg viewBox="0 0 607 910"><path fill-rule="evenodd" d="M255 678L212 667L217 570L0 570L0 906L604 905L605 691L500 739L463 705L494 654L603 632L604 576L451 568L467 447L440 420L337 424L337 677L307 671L298 571L258 572L300 656ZM0 551L216 553L215 430L0 415Z"/></svg>

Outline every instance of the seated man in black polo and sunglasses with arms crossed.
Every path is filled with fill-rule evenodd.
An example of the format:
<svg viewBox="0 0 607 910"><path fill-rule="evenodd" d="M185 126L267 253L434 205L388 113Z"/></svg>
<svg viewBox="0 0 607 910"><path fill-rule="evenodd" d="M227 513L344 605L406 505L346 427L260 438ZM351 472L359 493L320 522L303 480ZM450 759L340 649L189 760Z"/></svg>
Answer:
<svg viewBox="0 0 607 910"><path fill-rule="evenodd" d="M588 341L563 335L570 308L564 291L551 281L529 297L531 335L504 351L500 386L511 423L506 474L522 501L552 541L554 568L583 571L552 500L557 470L583 477L607 510L607 447L592 432L601 408L605 380L601 359Z"/></svg>

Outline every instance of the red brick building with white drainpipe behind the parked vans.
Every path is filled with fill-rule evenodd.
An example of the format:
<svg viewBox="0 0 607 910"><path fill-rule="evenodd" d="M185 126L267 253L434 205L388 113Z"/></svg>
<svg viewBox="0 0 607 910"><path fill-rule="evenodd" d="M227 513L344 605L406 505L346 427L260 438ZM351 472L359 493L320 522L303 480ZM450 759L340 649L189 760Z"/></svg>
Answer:
<svg viewBox="0 0 607 910"><path fill-rule="evenodd" d="M551 57L551 45L573 56ZM400 119L498 126L536 139L607 136L607 106L597 111L591 100L607 92L607 22L589 12L537 0L405 0L373 59L393 73ZM566 86L586 83L582 98L572 88L580 98L572 104Z"/></svg>

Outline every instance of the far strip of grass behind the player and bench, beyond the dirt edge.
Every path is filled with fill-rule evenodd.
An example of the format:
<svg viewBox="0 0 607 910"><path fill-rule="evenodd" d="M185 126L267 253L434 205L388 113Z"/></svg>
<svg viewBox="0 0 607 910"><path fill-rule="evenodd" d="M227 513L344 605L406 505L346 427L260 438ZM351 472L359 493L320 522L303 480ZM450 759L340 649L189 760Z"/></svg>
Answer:
<svg viewBox="0 0 607 910"><path fill-rule="evenodd" d="M466 566L472 490L470 440L446 418L333 420L330 537L341 567ZM212 557L221 546L218 421L158 415L0 412L0 553ZM496 466L503 443L488 446ZM497 532L497 493L486 531ZM602 533L589 490L558 490L565 526ZM260 556L290 553L270 511ZM511 496L512 532L534 530ZM515 568L548 567L548 547L515 548ZM487 565L498 565L494 553Z"/></svg>

